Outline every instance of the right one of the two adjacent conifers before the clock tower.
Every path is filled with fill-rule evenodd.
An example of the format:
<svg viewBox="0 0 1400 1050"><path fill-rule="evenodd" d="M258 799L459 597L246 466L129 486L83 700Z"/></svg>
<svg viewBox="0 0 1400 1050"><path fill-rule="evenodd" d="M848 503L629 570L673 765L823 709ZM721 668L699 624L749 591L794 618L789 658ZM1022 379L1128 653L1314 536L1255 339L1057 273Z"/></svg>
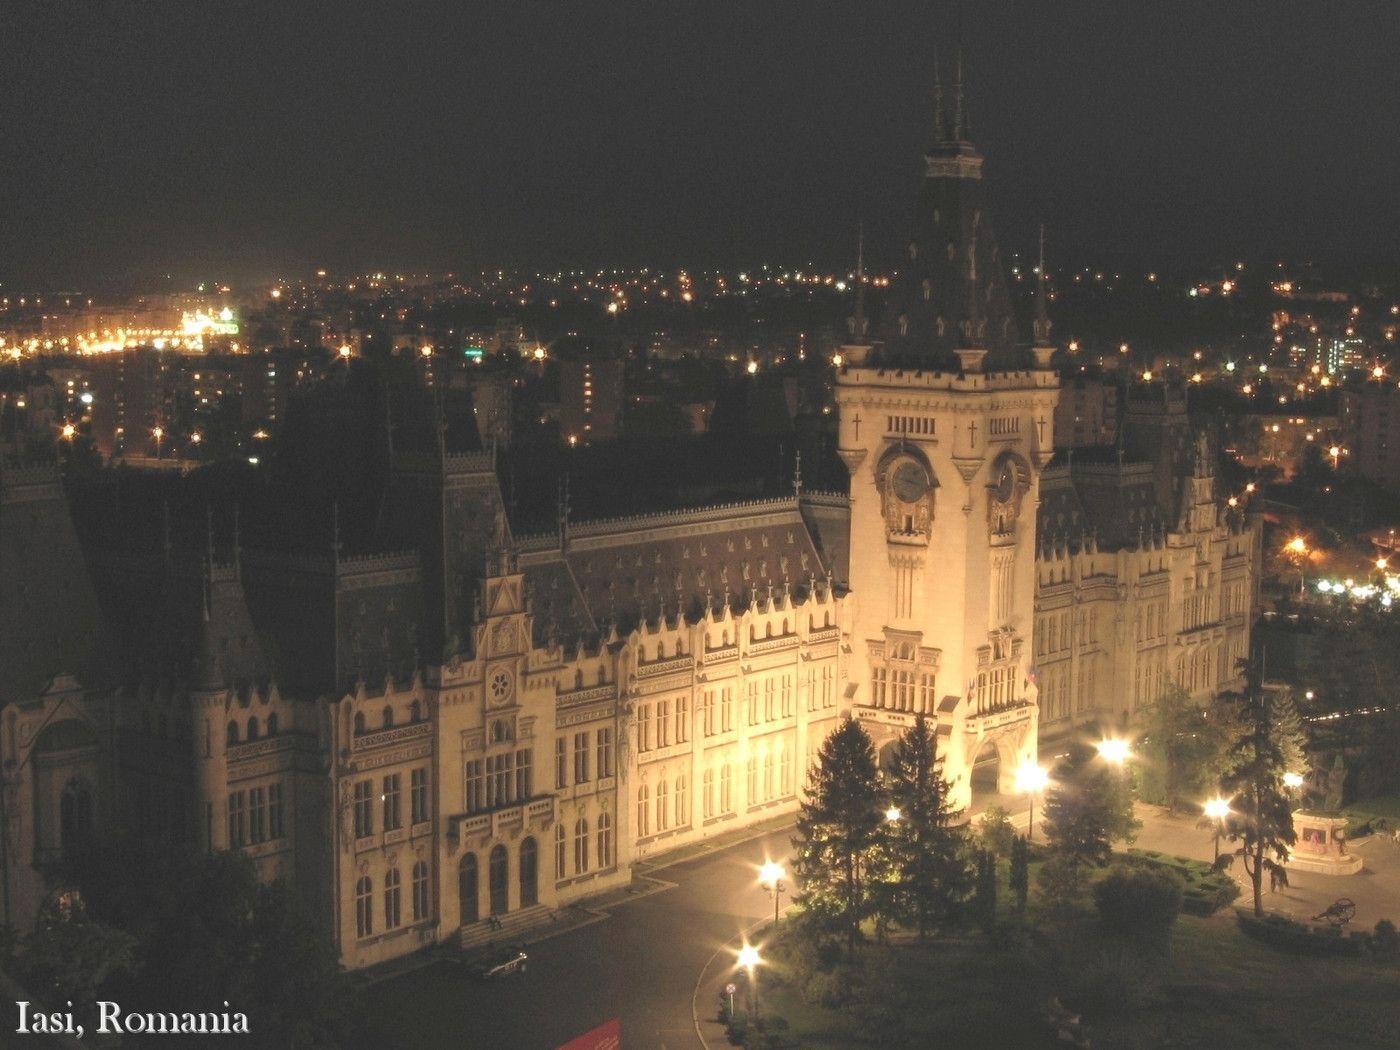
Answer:
<svg viewBox="0 0 1400 1050"><path fill-rule="evenodd" d="M938 738L920 714L895 745L886 787L897 819L881 827L879 906L924 941L952 918L972 890L962 815L948 798Z"/></svg>

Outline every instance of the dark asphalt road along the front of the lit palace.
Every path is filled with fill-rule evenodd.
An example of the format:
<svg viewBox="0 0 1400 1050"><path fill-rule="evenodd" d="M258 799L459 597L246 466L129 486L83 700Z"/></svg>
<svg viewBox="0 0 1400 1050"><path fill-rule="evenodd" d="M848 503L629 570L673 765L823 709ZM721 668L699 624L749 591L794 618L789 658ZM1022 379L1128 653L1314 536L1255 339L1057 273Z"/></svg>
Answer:
<svg viewBox="0 0 1400 1050"><path fill-rule="evenodd" d="M447 963L365 990L363 1046L393 1050L553 1050L622 1018L627 1050L700 1046L690 1012L715 949L773 914L756 869L787 858L791 829L650 872L673 889L627 900L592 923L528 948L529 970L475 983ZM787 902L784 902L787 903ZM713 1002L697 1004L708 1014Z"/></svg>

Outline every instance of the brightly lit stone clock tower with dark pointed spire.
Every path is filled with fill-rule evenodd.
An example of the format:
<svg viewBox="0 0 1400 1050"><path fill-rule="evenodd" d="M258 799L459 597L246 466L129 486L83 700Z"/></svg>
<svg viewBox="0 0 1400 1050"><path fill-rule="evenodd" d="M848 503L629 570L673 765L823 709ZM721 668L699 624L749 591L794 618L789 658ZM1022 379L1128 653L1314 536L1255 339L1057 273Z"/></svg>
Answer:
<svg viewBox="0 0 1400 1050"><path fill-rule="evenodd" d="M1035 346L1014 343L960 83L953 134L941 109L911 265L883 337L864 339L858 312L836 400L851 475L854 715L882 753L928 715L966 808L973 764L995 759L1009 794L1036 757L1036 505L1058 377L1043 297Z"/></svg>

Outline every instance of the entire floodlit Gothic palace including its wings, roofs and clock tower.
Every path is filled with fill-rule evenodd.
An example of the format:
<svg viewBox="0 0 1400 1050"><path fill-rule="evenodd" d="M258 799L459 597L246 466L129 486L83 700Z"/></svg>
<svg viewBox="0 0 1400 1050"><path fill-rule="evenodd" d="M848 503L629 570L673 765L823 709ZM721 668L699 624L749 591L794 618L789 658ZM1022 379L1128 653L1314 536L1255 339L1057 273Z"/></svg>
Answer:
<svg viewBox="0 0 1400 1050"><path fill-rule="evenodd" d="M841 718L883 753L927 714L966 806L1046 736L1231 682L1257 526L1169 398L1134 400L1117 449L1056 451L1044 297L1028 346L960 109L892 305L850 319L848 493L515 536L493 455L372 393L347 413L386 420L354 458L372 498L321 533L302 508L259 539L276 504L244 507L246 542L203 505L123 526L4 469L4 920L122 829L244 851L360 969L792 813Z"/></svg>

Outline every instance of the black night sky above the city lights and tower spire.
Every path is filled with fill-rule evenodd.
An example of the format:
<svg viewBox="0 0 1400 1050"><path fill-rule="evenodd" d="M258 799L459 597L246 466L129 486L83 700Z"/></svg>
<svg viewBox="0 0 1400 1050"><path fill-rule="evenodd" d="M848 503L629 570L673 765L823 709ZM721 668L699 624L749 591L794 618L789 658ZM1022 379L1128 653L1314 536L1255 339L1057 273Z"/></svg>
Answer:
<svg viewBox="0 0 1400 1050"><path fill-rule="evenodd" d="M1008 249L1400 244L1393 3L969 3ZM7 0L4 290L896 258L952 4ZM946 69L945 76L951 77Z"/></svg>

